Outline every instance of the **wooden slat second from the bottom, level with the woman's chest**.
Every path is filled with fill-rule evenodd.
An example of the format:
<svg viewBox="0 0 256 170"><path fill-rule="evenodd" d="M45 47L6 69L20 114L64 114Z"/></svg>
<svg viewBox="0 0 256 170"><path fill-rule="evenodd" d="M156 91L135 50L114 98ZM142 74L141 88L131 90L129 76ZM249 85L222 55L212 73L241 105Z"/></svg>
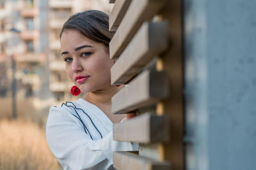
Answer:
<svg viewBox="0 0 256 170"><path fill-rule="evenodd" d="M113 139L138 143L166 142L170 138L166 120L165 116L145 113L126 122L113 124Z"/></svg>

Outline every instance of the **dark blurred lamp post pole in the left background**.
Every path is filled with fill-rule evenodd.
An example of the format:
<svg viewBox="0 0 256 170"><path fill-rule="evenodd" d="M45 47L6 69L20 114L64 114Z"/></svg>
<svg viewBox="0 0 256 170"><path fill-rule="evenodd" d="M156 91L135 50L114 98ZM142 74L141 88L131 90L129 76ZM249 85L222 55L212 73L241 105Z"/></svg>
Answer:
<svg viewBox="0 0 256 170"><path fill-rule="evenodd" d="M16 63L12 55L12 118L17 119L17 108L16 108Z"/></svg>

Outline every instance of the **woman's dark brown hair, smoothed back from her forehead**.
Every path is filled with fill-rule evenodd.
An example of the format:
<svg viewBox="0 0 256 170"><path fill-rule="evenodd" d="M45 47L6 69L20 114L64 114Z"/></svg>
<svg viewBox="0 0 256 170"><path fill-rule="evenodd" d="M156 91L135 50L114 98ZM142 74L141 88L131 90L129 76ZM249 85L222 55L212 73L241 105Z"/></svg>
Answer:
<svg viewBox="0 0 256 170"><path fill-rule="evenodd" d="M97 10L88 10L76 13L68 18L63 25L60 38L65 30L76 30L86 38L109 46L113 32L109 31L109 17L106 13Z"/></svg>

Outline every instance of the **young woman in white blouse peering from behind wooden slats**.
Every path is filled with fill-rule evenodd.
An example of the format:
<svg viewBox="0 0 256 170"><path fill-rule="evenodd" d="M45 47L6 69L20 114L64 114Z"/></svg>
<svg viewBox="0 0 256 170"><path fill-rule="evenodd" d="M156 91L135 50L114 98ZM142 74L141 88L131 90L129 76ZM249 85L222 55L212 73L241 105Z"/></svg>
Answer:
<svg viewBox="0 0 256 170"><path fill-rule="evenodd" d="M68 78L86 93L49 111L47 143L63 169L114 169L113 151L138 150L138 144L113 141L112 125L125 116L111 114L111 97L122 88L110 83L112 36L108 15L95 10L73 15L61 30Z"/></svg>

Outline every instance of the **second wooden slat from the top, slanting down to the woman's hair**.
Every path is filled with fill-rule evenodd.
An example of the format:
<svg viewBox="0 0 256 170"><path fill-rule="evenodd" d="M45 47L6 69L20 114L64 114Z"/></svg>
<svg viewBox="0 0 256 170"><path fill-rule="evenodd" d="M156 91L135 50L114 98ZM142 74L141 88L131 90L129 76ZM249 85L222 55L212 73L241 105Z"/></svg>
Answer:
<svg viewBox="0 0 256 170"><path fill-rule="evenodd" d="M128 45L141 24L152 18L164 4L164 0L133 0L115 35L109 43L109 56L116 59Z"/></svg>

